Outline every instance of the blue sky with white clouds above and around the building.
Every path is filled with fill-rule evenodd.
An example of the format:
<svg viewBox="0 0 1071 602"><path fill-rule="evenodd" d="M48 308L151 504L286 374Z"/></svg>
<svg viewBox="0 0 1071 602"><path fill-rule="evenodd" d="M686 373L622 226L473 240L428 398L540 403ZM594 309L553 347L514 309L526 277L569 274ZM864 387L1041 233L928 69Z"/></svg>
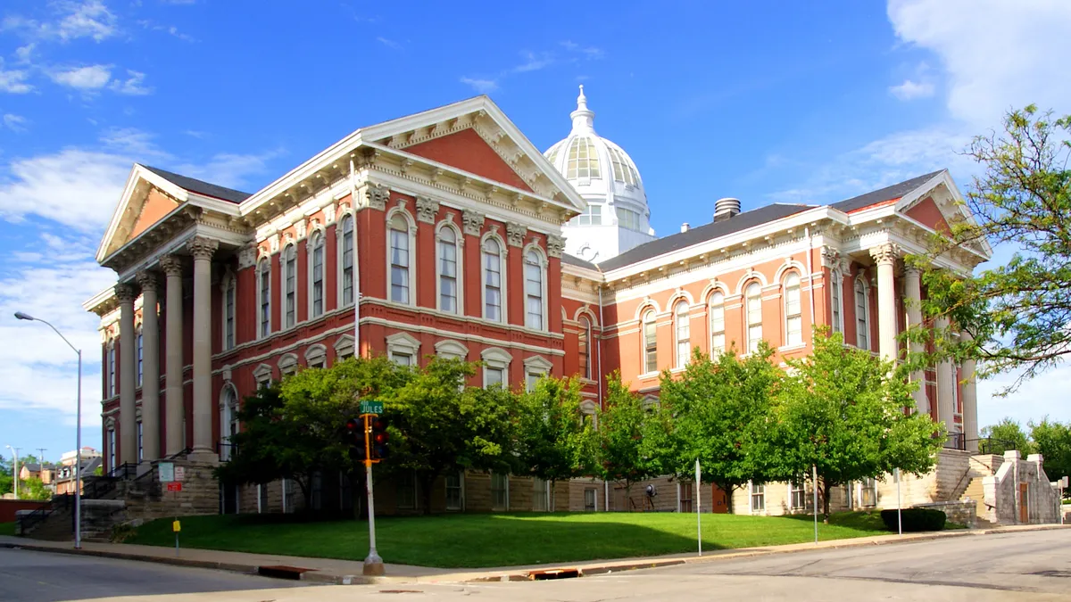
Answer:
<svg viewBox="0 0 1071 602"><path fill-rule="evenodd" d="M826 202L938 167L1036 102L1071 112L1064 0L367 3L7 0L0 7L0 446L73 449L73 353L100 446L92 255L134 161L253 192L352 130L488 93L536 146L597 131L635 160L660 234ZM1014 4L1014 6L1012 6ZM1047 413L1056 370L983 424ZM2 449L2 448L0 448Z"/></svg>

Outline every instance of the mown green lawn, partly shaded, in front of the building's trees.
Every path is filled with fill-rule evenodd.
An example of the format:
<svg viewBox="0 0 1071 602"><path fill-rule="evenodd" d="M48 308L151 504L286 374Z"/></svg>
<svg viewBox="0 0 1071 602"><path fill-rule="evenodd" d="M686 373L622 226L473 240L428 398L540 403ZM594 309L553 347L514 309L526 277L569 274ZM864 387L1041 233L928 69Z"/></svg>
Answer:
<svg viewBox="0 0 1071 602"><path fill-rule="evenodd" d="M181 545L291 556L362 560L367 524L360 521L293 522L280 515L182 518ZM877 513L851 512L819 523L824 540L885 532ZM692 552L695 515L673 513L453 514L380 517L380 556L388 562L481 568L574 562ZM705 551L801 543L814 538L810 516L703 515ZM171 520L137 529L126 543L175 545Z"/></svg>

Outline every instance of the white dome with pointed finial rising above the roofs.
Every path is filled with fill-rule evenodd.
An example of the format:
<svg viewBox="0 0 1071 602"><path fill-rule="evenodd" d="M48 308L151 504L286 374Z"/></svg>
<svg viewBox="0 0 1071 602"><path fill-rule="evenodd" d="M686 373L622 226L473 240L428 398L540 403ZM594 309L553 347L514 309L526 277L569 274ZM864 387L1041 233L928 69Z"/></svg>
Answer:
<svg viewBox="0 0 1071 602"><path fill-rule="evenodd" d="M621 147L595 134L594 116L580 86L576 110L570 114L573 130L543 154L588 204L564 227L565 252L603 260L653 239L654 231L636 164ZM614 231L594 231L607 226Z"/></svg>

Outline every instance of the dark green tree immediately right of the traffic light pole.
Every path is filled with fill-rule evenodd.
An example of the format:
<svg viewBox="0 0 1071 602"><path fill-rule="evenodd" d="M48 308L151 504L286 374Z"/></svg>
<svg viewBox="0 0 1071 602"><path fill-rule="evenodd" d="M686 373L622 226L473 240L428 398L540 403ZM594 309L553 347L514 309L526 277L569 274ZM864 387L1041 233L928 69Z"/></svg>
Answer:
<svg viewBox="0 0 1071 602"><path fill-rule="evenodd" d="M391 457L384 468L411 471L431 513L432 486L448 472L513 468L515 408L502 388L465 387L476 364L434 358L384 396Z"/></svg>

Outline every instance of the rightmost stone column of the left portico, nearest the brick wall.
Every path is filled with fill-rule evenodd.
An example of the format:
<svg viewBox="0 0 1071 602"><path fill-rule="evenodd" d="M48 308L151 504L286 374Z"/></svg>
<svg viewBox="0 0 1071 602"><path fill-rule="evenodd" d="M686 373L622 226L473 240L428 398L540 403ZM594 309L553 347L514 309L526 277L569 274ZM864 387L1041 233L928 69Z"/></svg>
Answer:
<svg viewBox="0 0 1071 602"><path fill-rule="evenodd" d="M218 241L196 237L194 256L194 447L198 460L218 458L212 445L212 255Z"/></svg>

